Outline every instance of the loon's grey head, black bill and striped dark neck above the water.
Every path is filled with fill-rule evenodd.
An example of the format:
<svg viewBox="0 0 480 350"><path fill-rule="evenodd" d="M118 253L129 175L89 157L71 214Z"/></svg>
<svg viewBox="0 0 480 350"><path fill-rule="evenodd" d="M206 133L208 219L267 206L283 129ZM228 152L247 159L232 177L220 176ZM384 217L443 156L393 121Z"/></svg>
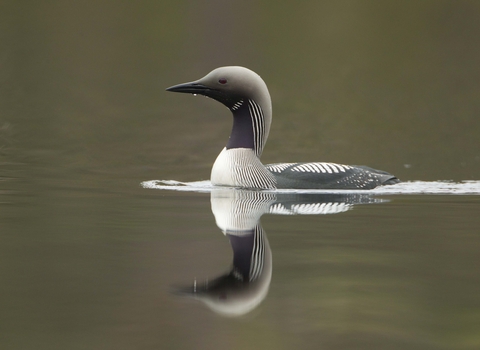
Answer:
<svg viewBox="0 0 480 350"><path fill-rule="evenodd" d="M225 105L234 117L227 149L252 148L261 155L270 132L272 103L267 85L257 73L239 66L220 67L167 91L203 95Z"/></svg>

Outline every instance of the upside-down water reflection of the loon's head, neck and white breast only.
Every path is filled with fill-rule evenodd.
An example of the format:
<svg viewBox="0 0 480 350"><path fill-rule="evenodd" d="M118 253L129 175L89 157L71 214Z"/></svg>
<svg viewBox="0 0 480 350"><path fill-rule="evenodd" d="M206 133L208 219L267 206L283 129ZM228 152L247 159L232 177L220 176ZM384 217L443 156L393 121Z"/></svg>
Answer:
<svg viewBox="0 0 480 350"><path fill-rule="evenodd" d="M212 212L230 240L233 267L213 281L195 282L182 292L223 316L241 316L255 309L267 296L272 279L272 252L259 221L274 201L271 193L213 191Z"/></svg>

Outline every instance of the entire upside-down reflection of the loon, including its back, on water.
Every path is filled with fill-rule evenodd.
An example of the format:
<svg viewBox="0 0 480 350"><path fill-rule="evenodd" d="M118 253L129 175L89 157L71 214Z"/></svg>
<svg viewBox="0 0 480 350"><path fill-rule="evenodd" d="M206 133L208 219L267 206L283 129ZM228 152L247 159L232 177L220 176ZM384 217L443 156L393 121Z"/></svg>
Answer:
<svg viewBox="0 0 480 350"><path fill-rule="evenodd" d="M213 280L178 288L180 295L200 300L223 316L241 316L267 296L272 280L272 251L260 224L263 214L320 215L345 212L356 204L385 200L366 194L288 194L218 189L211 192L217 226L233 250L230 271Z"/></svg>

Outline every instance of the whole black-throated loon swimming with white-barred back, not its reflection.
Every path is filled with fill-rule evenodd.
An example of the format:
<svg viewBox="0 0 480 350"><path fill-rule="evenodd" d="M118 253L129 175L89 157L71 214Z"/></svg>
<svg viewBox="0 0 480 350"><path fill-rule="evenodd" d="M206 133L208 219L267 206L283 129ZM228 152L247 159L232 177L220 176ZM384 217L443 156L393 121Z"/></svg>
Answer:
<svg viewBox="0 0 480 350"><path fill-rule="evenodd" d="M260 157L272 123L272 102L264 80L248 68L219 67L201 79L166 90L212 98L232 113L230 137L211 171L210 181L214 186L256 190L368 190L400 182L388 172L363 165L330 162L263 165Z"/></svg>

